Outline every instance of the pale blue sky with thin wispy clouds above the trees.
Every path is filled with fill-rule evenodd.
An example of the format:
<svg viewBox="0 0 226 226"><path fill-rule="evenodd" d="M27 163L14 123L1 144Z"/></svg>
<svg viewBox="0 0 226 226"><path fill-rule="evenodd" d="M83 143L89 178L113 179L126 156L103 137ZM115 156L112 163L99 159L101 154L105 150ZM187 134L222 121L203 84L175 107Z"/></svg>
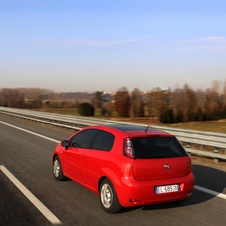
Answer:
<svg viewBox="0 0 226 226"><path fill-rule="evenodd" d="M0 0L0 89L223 84L225 12L225 0Z"/></svg>

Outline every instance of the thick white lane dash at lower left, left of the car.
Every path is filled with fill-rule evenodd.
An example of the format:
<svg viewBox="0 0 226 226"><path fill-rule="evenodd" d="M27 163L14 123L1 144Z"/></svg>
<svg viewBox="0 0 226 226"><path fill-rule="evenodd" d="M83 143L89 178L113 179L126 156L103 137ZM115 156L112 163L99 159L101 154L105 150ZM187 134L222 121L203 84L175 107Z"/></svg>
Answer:
<svg viewBox="0 0 226 226"><path fill-rule="evenodd" d="M30 200L31 203L54 225L60 225L62 222L42 203L40 202L16 177L13 176L5 166L0 165L0 170L16 185L16 187Z"/></svg>

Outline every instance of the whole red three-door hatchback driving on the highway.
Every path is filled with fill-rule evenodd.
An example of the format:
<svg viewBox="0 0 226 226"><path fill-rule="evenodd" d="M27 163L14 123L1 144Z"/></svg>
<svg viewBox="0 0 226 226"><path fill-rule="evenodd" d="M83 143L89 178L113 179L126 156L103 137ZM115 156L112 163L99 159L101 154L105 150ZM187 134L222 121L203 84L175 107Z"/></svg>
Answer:
<svg viewBox="0 0 226 226"><path fill-rule="evenodd" d="M58 144L56 180L68 177L99 194L108 213L191 197L191 160L175 136L142 126L90 126Z"/></svg>

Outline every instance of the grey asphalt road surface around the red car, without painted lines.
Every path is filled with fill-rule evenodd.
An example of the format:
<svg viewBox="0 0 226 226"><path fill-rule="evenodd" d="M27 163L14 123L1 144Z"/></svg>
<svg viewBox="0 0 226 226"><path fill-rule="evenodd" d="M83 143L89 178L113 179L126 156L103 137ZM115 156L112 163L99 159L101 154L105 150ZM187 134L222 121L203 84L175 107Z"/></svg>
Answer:
<svg viewBox="0 0 226 226"><path fill-rule="evenodd" d="M0 121L64 140L73 134L0 115ZM63 225L225 225L226 200L195 190L182 203L105 213L99 197L76 182L55 181L51 157L56 142L0 123L0 165L4 165ZM193 165L196 184L226 194L226 172ZM52 225L0 171L0 225Z"/></svg>

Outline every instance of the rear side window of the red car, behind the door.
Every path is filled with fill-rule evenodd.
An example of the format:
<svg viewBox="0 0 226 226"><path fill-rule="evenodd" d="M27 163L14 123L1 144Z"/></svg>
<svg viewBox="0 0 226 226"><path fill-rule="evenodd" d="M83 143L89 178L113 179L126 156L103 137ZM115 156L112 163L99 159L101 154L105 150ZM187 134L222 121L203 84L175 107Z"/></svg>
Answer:
<svg viewBox="0 0 226 226"><path fill-rule="evenodd" d="M114 144L115 136L106 131L100 131L94 141L93 149L110 151Z"/></svg>

